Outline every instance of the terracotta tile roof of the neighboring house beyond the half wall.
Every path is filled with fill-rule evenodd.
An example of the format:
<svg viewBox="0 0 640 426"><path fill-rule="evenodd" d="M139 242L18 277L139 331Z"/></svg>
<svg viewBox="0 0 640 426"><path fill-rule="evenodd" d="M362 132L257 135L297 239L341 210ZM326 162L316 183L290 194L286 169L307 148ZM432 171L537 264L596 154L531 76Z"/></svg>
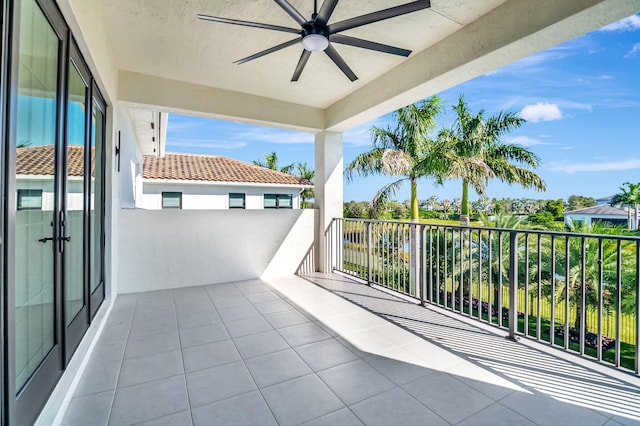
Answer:
<svg viewBox="0 0 640 426"><path fill-rule="evenodd" d="M199 154L166 154L163 158L145 157L143 177L185 181L313 185L306 179L232 158Z"/></svg>

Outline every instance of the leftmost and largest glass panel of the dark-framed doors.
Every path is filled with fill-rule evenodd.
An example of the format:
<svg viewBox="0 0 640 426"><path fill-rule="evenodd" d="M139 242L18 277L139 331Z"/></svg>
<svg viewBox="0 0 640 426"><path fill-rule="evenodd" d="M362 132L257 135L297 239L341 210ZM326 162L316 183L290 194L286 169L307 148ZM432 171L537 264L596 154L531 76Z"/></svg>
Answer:
<svg viewBox="0 0 640 426"><path fill-rule="evenodd" d="M60 40L35 1L22 2L20 19L16 200L26 202L15 206L16 392L57 343L53 224Z"/></svg>

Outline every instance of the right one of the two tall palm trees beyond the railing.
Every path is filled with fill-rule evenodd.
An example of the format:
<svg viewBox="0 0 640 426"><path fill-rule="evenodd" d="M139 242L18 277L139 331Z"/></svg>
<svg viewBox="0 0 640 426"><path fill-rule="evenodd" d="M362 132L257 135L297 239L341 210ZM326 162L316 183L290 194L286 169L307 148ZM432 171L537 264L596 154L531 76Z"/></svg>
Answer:
<svg viewBox="0 0 640 426"><path fill-rule="evenodd" d="M484 111L472 115L464 96L453 106L456 120L443 129L439 139L448 147L448 177L462 179L460 224L469 225L469 186L484 196L489 179L499 179L525 188L546 190L544 181L532 169L540 158L528 149L501 141L505 133L520 127L525 120L515 112L501 111L485 118Z"/></svg>

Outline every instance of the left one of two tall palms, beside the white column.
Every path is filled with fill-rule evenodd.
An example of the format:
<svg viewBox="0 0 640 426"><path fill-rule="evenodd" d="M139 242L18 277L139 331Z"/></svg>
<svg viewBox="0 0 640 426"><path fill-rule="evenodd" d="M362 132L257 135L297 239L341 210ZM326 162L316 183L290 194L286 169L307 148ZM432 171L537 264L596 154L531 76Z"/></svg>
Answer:
<svg viewBox="0 0 640 426"><path fill-rule="evenodd" d="M371 217L377 216L381 207L395 195L406 182L411 183L411 219L418 221L418 179L439 177L435 143L429 133L436 127L435 117L442 111L442 100L432 96L419 104L400 108L394 113L397 120L394 129L373 127L373 149L358 155L345 170L347 180L354 175L383 174L402 176L401 179L381 188L370 203Z"/></svg>

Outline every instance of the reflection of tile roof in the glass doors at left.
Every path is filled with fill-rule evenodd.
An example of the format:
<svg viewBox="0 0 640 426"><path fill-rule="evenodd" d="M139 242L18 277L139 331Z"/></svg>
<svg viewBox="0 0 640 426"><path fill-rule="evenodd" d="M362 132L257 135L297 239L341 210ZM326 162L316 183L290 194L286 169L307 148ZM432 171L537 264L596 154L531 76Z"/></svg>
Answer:
<svg viewBox="0 0 640 426"><path fill-rule="evenodd" d="M69 176L83 176L84 147L71 145L67 152ZM16 174L18 175L53 176L54 167L54 145L16 149ZM93 176L93 171L91 175Z"/></svg>

